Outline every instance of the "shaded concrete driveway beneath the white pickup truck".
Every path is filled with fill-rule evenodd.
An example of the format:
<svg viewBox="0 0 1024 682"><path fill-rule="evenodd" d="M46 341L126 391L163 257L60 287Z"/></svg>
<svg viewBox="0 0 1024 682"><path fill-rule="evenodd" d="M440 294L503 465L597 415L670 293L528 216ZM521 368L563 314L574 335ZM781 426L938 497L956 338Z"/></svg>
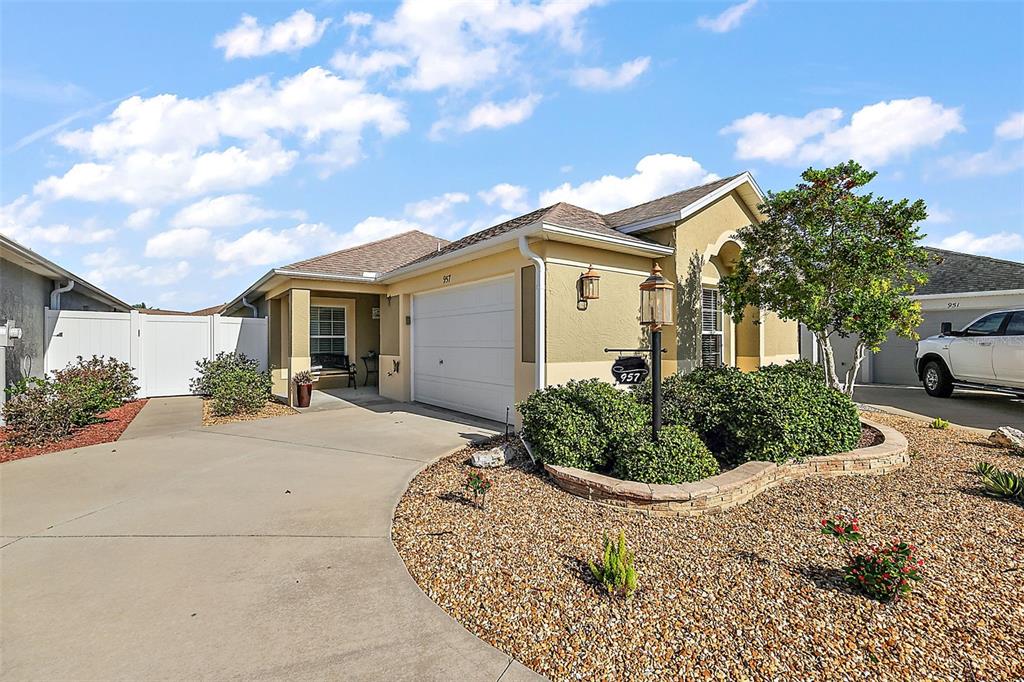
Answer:
<svg viewBox="0 0 1024 682"><path fill-rule="evenodd" d="M937 398L920 386L868 384L857 386L853 399L933 419L941 417L961 426L1024 428L1024 398L1006 393L957 388L950 397Z"/></svg>

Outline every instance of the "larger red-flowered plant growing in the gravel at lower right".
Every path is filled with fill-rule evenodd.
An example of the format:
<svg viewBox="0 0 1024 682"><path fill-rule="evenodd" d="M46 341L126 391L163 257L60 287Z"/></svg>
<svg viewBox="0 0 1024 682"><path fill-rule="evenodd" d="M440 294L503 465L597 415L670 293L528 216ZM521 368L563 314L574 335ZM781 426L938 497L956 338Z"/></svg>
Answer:
<svg viewBox="0 0 1024 682"><path fill-rule="evenodd" d="M856 517L834 516L821 519L821 534L839 540L849 562L844 580L879 601L892 601L910 593L911 584L922 580L924 559L915 555L916 548L899 539L888 545L873 546L867 552L854 552L852 545L863 536Z"/></svg>

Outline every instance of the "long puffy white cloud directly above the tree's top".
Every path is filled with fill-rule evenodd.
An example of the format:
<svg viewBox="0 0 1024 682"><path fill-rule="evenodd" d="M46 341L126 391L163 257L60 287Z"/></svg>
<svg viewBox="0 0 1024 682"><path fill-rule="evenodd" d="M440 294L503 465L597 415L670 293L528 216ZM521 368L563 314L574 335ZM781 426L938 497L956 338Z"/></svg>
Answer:
<svg viewBox="0 0 1024 682"><path fill-rule="evenodd" d="M868 104L854 112L847 125L837 127L842 117L838 109L819 109L804 117L752 114L721 132L739 135L738 159L801 164L855 159L881 166L965 130L959 109L931 97Z"/></svg>

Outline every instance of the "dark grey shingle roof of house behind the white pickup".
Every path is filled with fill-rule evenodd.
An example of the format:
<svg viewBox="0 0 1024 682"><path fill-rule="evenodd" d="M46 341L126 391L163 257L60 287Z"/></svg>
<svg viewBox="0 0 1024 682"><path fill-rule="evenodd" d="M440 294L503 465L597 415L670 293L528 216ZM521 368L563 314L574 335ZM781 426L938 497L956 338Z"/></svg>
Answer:
<svg viewBox="0 0 1024 682"><path fill-rule="evenodd" d="M916 295L1024 289L1024 263L926 247L941 262L926 268L928 283Z"/></svg>

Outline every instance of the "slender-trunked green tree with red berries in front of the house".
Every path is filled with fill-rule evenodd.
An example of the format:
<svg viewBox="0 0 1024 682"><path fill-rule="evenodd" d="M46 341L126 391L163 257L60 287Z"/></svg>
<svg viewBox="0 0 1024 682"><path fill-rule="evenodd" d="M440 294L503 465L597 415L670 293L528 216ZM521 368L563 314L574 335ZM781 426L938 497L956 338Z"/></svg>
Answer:
<svg viewBox="0 0 1024 682"><path fill-rule="evenodd" d="M931 259L919 245L925 203L856 193L874 176L850 161L809 168L795 188L769 193L764 220L737 230L739 260L721 283L723 307L737 322L753 305L804 323L825 381L850 395L865 350L877 351L891 330L918 338L921 305L907 296L928 281ZM841 378L831 338L851 334L853 364Z"/></svg>

